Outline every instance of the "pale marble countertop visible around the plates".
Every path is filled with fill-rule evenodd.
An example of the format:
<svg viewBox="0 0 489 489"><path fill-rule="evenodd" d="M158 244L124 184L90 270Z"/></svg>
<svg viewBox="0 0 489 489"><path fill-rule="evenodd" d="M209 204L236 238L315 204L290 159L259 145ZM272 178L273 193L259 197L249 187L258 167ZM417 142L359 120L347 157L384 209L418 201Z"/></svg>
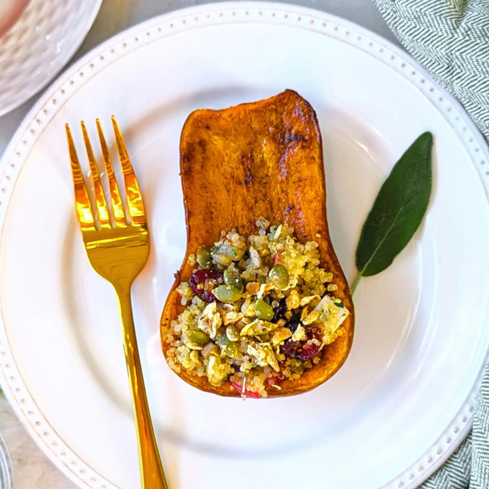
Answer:
<svg viewBox="0 0 489 489"><path fill-rule="evenodd" d="M112 35L166 12L206 3L200 0L104 0L100 12L71 65L94 46ZM289 1L288 3L294 3ZM399 45L372 0L300 0L303 6L315 8L356 22ZM18 109L0 117L0 155L25 114L37 101L37 94ZM2 171L0 163L0 171ZM30 438L8 401L0 395L0 433L10 452L16 489L75 489Z"/></svg>

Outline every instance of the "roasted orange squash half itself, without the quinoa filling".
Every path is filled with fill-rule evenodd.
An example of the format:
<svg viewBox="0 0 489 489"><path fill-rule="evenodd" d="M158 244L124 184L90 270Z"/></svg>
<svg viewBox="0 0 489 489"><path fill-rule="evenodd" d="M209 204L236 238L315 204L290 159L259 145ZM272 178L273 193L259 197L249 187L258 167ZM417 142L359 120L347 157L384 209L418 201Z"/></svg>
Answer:
<svg viewBox="0 0 489 489"><path fill-rule="evenodd" d="M219 111L192 112L180 138L187 249L163 308L161 345L166 358L170 323L183 311L177 287L189 280L194 266L187 257L198 246L212 247L222 230L235 228L244 237L256 234L256 220L287 222L301 243L316 241L321 267L333 273L334 296L350 311L345 333L322 349L318 364L298 380L285 380L268 397L306 392L330 378L343 364L353 341L352 294L331 244L326 217L326 185L319 124L311 105L292 90L271 98ZM317 236L319 233L319 237ZM229 380L219 387L183 369L177 374L200 390L239 397Z"/></svg>

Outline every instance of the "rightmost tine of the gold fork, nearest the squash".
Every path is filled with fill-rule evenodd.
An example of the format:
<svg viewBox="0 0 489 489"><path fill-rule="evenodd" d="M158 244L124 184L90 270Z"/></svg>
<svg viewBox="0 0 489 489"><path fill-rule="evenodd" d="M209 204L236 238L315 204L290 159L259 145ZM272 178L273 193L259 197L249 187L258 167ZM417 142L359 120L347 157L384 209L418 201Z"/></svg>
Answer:
<svg viewBox="0 0 489 489"><path fill-rule="evenodd" d="M139 190L139 184L137 183L137 178L134 174L133 165L129 160L124 139L113 115L112 125L114 127L115 141L117 143L117 151L119 153L119 159L122 165L122 172L124 173L124 184L126 186L126 198L129 215L131 216L134 225L145 225L146 216L144 213L143 198L141 196L141 191Z"/></svg>

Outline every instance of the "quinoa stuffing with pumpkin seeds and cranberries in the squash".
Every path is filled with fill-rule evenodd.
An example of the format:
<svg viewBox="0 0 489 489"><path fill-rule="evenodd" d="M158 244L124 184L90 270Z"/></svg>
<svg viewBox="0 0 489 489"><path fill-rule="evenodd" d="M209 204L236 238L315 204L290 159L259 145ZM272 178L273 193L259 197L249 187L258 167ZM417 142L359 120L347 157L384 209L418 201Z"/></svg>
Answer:
<svg viewBox="0 0 489 489"><path fill-rule="evenodd" d="M256 235L222 231L214 247L190 255L195 268L177 289L185 309L171 322L167 359L176 372L265 398L320 361L349 311L319 267L316 242L297 242L285 223L256 225Z"/></svg>

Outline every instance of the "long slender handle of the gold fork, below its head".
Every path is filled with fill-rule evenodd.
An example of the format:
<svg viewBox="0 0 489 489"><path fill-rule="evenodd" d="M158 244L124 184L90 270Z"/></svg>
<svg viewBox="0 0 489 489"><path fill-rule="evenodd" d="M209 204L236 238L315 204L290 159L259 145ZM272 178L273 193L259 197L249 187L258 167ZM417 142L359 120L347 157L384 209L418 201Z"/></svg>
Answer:
<svg viewBox="0 0 489 489"><path fill-rule="evenodd" d="M158 446L156 445L153 423L151 422L148 400L146 399L146 389L144 388L141 362L137 350L133 308L131 305L131 284L118 284L114 287L119 303L124 352L126 354L127 372L133 399L142 489L168 489Z"/></svg>

